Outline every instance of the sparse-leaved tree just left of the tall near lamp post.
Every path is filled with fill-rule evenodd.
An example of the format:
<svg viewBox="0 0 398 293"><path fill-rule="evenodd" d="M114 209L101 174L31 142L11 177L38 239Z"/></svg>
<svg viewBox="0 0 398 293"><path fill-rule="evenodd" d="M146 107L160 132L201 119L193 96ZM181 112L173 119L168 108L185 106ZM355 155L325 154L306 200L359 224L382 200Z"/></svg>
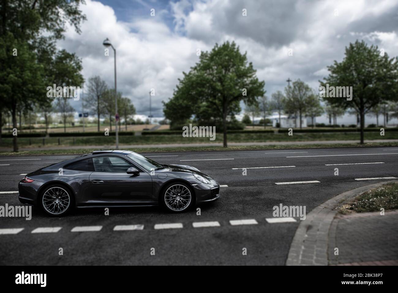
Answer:
<svg viewBox="0 0 398 293"><path fill-rule="evenodd" d="M100 132L100 116L104 114L103 96L106 90L105 81L98 75L88 79L88 96L86 97L86 101L90 109L97 114L98 132Z"/></svg>

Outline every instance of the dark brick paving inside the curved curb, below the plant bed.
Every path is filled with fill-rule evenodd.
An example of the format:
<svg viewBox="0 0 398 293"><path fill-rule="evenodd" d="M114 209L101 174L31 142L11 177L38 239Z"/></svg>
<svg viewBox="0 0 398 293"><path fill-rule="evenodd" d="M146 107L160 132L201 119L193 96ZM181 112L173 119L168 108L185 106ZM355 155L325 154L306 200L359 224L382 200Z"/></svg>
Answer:
<svg viewBox="0 0 398 293"><path fill-rule="evenodd" d="M398 265L398 211L338 214L329 230L328 259L334 265Z"/></svg>

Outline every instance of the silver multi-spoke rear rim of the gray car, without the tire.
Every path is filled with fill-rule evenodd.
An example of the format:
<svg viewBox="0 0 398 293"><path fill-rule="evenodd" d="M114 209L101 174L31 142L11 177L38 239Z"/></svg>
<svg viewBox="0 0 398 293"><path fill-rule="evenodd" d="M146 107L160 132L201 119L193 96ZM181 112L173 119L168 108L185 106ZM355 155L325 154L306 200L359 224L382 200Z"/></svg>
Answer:
<svg viewBox="0 0 398 293"><path fill-rule="evenodd" d="M61 187L51 187L43 195L43 207L50 214L62 214L70 205L68 192Z"/></svg>

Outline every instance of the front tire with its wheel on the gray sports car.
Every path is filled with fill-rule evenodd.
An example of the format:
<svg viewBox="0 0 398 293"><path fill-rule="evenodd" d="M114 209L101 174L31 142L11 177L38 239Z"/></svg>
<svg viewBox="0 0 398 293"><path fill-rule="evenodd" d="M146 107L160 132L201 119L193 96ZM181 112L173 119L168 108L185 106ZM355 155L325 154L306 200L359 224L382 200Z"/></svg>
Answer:
<svg viewBox="0 0 398 293"><path fill-rule="evenodd" d="M185 187L185 189L183 187ZM180 191L180 193L174 193L174 191ZM171 195L170 192L175 195ZM172 201L173 199L174 201ZM173 182L166 185L163 189L160 195L160 201L169 212L185 212L195 205L195 194L189 184L180 181Z"/></svg>

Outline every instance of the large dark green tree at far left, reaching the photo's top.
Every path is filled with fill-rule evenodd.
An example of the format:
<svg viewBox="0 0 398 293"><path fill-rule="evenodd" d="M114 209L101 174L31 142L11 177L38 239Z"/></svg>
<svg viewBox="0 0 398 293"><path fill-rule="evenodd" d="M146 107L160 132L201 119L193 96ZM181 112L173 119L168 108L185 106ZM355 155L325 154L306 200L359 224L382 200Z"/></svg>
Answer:
<svg viewBox="0 0 398 293"><path fill-rule="evenodd" d="M17 107L32 107L49 100L51 62L55 41L62 39L66 23L80 33L85 19L82 1L3 0L0 4L0 99L10 109L17 128ZM43 53L45 52L45 53ZM46 56L46 57L44 57ZM31 108L29 108L31 110ZM18 151L17 136L13 139Z"/></svg>

